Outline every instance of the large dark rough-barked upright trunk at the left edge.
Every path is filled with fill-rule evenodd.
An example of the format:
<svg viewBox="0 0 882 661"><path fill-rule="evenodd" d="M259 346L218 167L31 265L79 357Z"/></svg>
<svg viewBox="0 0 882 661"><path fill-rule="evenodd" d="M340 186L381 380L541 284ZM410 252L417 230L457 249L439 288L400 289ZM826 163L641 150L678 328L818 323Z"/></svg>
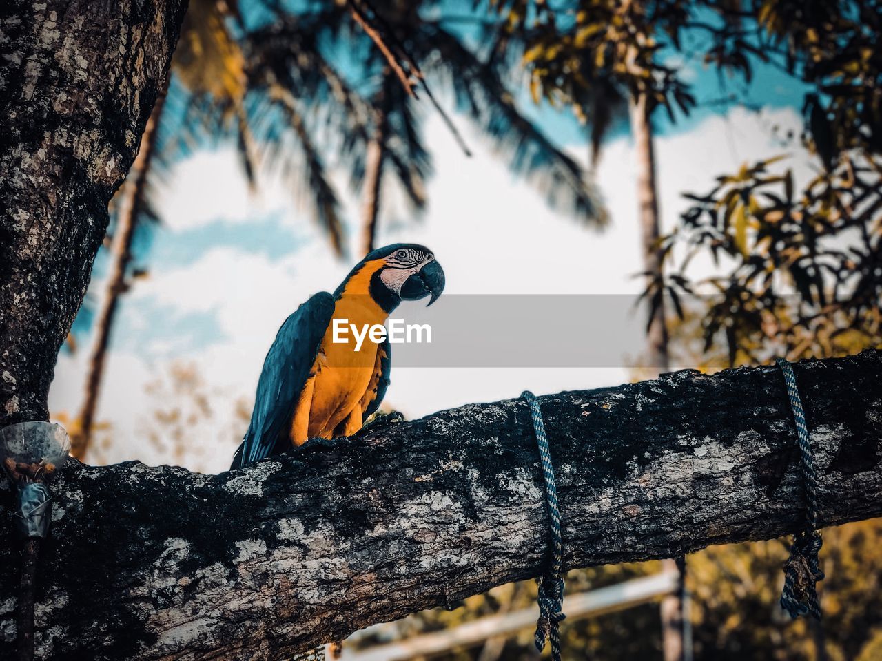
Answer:
<svg viewBox="0 0 882 661"><path fill-rule="evenodd" d="M46 420L185 0L0 4L0 427Z"/></svg>

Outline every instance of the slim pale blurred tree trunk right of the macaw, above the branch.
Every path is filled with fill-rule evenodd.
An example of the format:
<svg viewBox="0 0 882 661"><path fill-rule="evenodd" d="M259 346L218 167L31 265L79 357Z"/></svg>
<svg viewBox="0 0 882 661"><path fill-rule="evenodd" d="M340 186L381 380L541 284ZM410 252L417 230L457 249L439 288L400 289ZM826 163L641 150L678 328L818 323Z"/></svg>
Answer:
<svg viewBox="0 0 882 661"><path fill-rule="evenodd" d="M662 250L658 195L655 189L655 151L647 95L639 93L630 100L631 130L637 157L637 199L639 203L640 242L647 284L662 276ZM670 368L668 331L665 327L664 300L659 298L647 331L647 368L665 371Z"/></svg>

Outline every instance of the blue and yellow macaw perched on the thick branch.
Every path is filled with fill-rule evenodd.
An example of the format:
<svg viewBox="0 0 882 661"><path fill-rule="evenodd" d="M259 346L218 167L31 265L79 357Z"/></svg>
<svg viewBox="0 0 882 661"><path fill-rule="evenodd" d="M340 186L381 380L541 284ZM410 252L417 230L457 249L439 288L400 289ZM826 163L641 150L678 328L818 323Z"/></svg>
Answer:
<svg viewBox="0 0 882 661"><path fill-rule="evenodd" d="M349 436L377 410L389 385L388 339L334 342L334 319L382 324L398 304L444 290L430 249L397 243L371 252L331 295L320 292L285 320L258 381L251 422L231 468L280 454L310 438ZM340 336L338 336L340 339Z"/></svg>

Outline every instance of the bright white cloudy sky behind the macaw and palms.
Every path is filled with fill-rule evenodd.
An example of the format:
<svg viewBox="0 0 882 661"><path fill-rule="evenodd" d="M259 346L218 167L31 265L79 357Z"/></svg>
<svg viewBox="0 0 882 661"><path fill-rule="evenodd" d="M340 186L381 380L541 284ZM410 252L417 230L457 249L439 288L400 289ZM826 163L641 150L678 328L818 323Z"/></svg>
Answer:
<svg viewBox="0 0 882 661"><path fill-rule="evenodd" d="M673 227L687 206L683 191L705 192L714 175L733 172L744 160L781 153L772 137L774 125L798 131L801 122L791 108L759 115L735 108L688 132L658 138L663 226ZM542 196L513 179L479 137L471 137L475 156L467 159L437 118L428 120L425 136L436 171L428 187L430 208L419 224L381 228L377 245L406 241L429 246L445 269L445 295L639 291L639 280L632 278L640 271L640 257L635 164L627 137L610 142L603 155L597 183L611 222L598 233L549 210ZM587 146L573 145L571 151L586 160ZM786 165L804 177L810 161L800 152ZM108 356L99 418L111 424L114 443L101 459L173 461L146 442L157 400L146 394L145 385L166 374L173 361L183 360L194 363L209 384L213 416L192 425L187 443L193 451L174 461L220 472L228 467L236 435L243 432L242 423L233 421L235 399L246 397L250 403L280 323L311 293L333 291L352 263L333 258L310 219L291 204L291 191L270 182L258 197L250 196L230 151L197 152L175 167L168 182L160 209L165 227L153 249L172 247L219 219L240 233L274 222L289 228L292 240L290 246L261 251L229 241L216 244L209 232L180 266L163 263L138 280L121 308L123 318ZM358 205L350 200L346 213L355 254ZM94 281L93 295L101 291L103 282ZM437 306L443 302L444 296ZM197 322L182 325L180 332L160 332L163 323L182 316ZM407 304L400 316L407 318ZM49 397L56 414L78 408L89 341L82 338L80 351L58 360ZM623 357L622 368L396 370L393 365L386 403L414 418L467 402L517 397L525 388L548 393L625 382L627 364Z"/></svg>

